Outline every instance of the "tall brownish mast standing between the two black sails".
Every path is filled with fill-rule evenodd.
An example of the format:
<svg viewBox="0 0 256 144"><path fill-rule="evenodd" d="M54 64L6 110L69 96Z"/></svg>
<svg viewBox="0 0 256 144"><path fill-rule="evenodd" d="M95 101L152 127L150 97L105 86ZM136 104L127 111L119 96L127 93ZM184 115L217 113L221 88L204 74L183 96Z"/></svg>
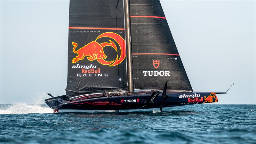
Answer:
<svg viewBox="0 0 256 144"><path fill-rule="evenodd" d="M128 91L133 92L133 72L132 72L132 36L131 36L131 17L130 17L130 0L124 0L124 26L126 42L126 59L127 59L127 84Z"/></svg>

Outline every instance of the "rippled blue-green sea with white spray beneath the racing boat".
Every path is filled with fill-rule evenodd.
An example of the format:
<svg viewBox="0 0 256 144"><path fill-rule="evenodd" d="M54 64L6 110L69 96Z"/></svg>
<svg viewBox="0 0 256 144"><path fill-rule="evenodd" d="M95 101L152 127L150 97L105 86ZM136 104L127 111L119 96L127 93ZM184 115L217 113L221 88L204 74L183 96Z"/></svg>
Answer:
<svg viewBox="0 0 256 144"><path fill-rule="evenodd" d="M0 104L0 143L256 143L256 105L53 114Z"/></svg>

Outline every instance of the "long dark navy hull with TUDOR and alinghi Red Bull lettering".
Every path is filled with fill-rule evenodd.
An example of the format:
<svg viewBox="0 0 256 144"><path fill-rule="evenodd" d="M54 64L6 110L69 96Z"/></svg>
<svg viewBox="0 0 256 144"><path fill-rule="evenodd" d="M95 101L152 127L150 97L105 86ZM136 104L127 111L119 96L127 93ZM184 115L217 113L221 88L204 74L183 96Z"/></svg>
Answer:
<svg viewBox="0 0 256 144"><path fill-rule="evenodd" d="M113 96L102 97L102 94L95 94L92 98L83 99L81 96L74 101L68 101L64 96L56 97L58 100L46 99L46 104L55 110L58 109L74 109L74 110L125 110L125 109L146 109L146 108L160 108L162 94L160 93L152 100L152 93L126 95L126 96ZM218 98L216 93L212 92L179 92L167 93L169 96L164 100L163 107L175 107L191 104L202 104L217 102ZM150 100L151 103L148 103Z"/></svg>

